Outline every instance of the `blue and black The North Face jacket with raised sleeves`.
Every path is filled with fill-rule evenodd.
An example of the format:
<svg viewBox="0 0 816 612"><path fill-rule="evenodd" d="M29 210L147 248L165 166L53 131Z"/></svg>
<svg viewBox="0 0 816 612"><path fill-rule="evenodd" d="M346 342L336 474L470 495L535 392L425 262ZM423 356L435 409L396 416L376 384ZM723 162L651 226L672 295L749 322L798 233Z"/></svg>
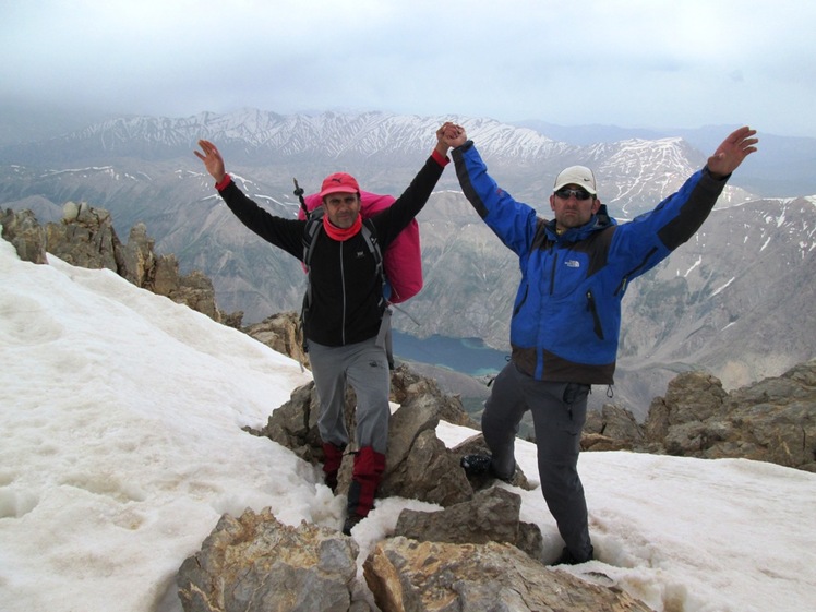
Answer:
<svg viewBox="0 0 816 612"><path fill-rule="evenodd" d="M619 225L601 206L586 225L557 235L554 219L539 218L496 184L472 141L453 159L470 204L518 255L513 362L539 380L613 384L627 284L694 236L728 177L717 180L704 168L629 223Z"/></svg>

